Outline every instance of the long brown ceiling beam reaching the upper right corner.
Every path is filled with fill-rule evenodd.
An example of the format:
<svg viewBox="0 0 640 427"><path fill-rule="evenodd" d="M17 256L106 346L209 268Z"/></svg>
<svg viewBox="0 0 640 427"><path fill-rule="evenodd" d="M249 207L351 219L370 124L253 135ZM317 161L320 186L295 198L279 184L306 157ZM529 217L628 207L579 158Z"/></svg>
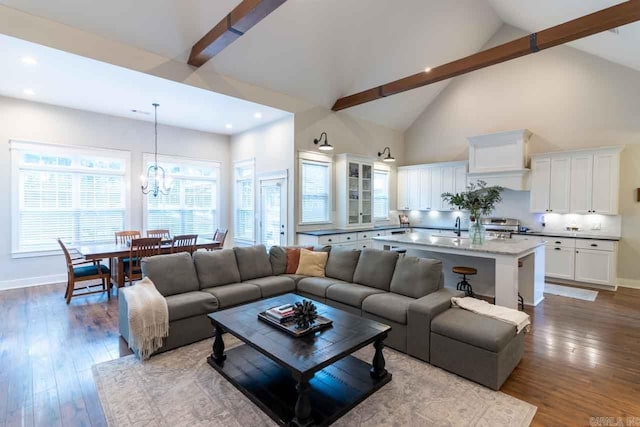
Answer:
<svg viewBox="0 0 640 427"><path fill-rule="evenodd" d="M427 86L441 80L509 61L539 50L549 49L602 31L640 20L640 0L628 0L616 6L574 19L538 33L483 50L453 62L422 71L409 77L377 86L336 101L333 111L375 101L396 93Z"/></svg>

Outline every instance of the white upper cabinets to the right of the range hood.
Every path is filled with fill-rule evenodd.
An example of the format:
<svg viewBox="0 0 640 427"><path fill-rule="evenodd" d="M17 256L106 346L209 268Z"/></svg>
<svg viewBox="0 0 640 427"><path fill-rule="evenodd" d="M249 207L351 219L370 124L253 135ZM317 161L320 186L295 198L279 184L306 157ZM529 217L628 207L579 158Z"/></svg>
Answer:
<svg viewBox="0 0 640 427"><path fill-rule="evenodd" d="M618 214L618 147L532 157L531 211Z"/></svg>

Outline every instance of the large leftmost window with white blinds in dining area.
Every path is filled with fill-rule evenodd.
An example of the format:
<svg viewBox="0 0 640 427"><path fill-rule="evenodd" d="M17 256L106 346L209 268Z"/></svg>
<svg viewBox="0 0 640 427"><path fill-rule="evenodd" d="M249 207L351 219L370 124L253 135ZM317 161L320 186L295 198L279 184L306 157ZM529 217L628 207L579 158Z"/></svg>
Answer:
<svg viewBox="0 0 640 427"><path fill-rule="evenodd" d="M126 228L129 153L11 142L13 252L113 240Z"/></svg>

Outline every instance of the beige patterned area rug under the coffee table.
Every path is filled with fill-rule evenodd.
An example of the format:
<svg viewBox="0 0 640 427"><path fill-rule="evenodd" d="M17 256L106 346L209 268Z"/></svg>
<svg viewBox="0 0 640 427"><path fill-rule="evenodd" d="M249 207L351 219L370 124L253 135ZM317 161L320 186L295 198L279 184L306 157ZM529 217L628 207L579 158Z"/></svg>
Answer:
<svg viewBox="0 0 640 427"><path fill-rule="evenodd" d="M227 348L241 344L225 335ZM211 340L152 357L93 366L109 426L274 426L271 418L211 368ZM370 361L371 346L356 353ZM336 426L528 426L537 408L385 349L392 381Z"/></svg>

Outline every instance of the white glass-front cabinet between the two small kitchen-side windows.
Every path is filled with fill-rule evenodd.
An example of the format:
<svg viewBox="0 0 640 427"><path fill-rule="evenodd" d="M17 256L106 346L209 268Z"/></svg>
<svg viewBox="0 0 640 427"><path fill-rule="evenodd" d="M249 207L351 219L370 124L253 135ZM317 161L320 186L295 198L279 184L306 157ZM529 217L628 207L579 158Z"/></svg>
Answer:
<svg viewBox="0 0 640 427"><path fill-rule="evenodd" d="M341 227L373 222L373 162L349 154L336 156L337 223Z"/></svg>

